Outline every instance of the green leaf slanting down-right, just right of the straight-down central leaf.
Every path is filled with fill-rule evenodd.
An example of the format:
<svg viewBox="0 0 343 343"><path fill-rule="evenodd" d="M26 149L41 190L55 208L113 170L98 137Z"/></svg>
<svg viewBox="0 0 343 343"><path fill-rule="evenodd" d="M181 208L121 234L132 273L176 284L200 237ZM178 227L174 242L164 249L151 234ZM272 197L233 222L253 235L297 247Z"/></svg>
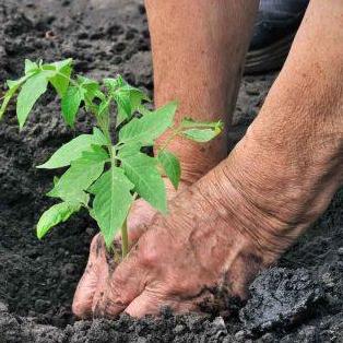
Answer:
<svg viewBox="0 0 343 343"><path fill-rule="evenodd" d="M134 185L134 190L155 209L166 213L166 190L157 169L157 161L142 153L119 153L119 158L127 177Z"/></svg>

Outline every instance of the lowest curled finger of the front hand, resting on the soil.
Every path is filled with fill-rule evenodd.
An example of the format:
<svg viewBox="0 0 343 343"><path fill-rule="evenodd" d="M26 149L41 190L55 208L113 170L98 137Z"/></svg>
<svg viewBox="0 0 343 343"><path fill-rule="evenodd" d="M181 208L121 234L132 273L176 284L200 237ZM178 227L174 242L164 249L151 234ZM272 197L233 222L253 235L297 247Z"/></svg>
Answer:
<svg viewBox="0 0 343 343"><path fill-rule="evenodd" d="M131 317L142 318L146 315L158 316L163 307L169 307L174 312L184 314L197 310L197 304L190 300L175 300L163 298L157 294L144 291L126 308L125 312Z"/></svg>

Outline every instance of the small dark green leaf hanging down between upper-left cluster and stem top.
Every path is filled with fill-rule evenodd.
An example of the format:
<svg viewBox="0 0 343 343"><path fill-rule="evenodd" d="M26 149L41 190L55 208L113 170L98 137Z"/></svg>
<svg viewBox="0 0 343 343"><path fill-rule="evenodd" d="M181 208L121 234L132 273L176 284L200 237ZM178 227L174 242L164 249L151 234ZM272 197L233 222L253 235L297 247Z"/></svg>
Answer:
<svg viewBox="0 0 343 343"><path fill-rule="evenodd" d="M71 85L62 97L62 115L66 122L71 127L74 126L74 120L84 94L85 91L82 87Z"/></svg>

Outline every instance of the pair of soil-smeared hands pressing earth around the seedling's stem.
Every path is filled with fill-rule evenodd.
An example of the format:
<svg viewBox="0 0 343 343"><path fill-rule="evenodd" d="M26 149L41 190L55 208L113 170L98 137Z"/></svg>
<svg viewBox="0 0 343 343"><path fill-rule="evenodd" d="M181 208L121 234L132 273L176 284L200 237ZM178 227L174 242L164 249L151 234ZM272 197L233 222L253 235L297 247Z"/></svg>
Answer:
<svg viewBox="0 0 343 343"><path fill-rule="evenodd" d="M246 261L238 251L247 243L229 233L220 209L203 193L211 193L211 185L181 185L167 216L138 200L129 217L133 247L119 265L108 260L102 236L95 236L74 296L74 314L114 317L125 311L143 317L158 314L162 306L197 310L213 297L215 285L230 285L232 294L245 296L247 273L240 271ZM169 188L168 197L175 196Z"/></svg>

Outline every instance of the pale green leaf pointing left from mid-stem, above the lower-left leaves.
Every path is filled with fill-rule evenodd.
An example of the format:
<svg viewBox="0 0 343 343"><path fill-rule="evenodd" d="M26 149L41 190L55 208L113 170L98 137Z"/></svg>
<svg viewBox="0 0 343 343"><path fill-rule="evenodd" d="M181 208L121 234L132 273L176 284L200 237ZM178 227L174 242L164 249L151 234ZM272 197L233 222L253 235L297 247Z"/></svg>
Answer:
<svg viewBox="0 0 343 343"><path fill-rule="evenodd" d="M62 145L45 164L37 166L37 168L67 167L72 161L80 158L83 152L92 151L92 145L106 145L106 138L97 128L94 128L93 134L81 134Z"/></svg>

